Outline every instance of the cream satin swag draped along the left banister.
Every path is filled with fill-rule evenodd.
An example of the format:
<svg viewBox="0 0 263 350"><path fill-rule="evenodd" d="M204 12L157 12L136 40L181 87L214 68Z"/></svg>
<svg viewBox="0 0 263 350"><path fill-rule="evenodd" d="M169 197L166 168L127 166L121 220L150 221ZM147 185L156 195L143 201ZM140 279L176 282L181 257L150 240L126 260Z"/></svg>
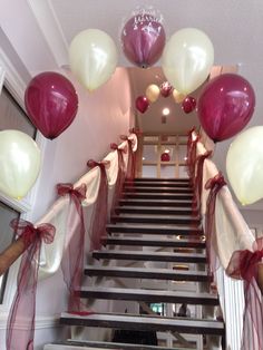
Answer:
<svg viewBox="0 0 263 350"><path fill-rule="evenodd" d="M133 142L133 152L137 149L137 136L130 134L128 137ZM123 142L119 146L119 149L127 149L124 153L125 166L127 168L128 162L128 142ZM106 167L109 188L114 187L117 181L118 175L118 154L117 150L110 152L103 161L109 161L109 165ZM98 195L98 188L100 183L100 171L99 167L90 169L84 176L74 184L74 187L78 187L81 184L87 185L86 200L82 201L84 211L92 205ZM69 237L65 236L67 232L67 218L70 215L70 200L69 196L58 198L48 213L36 223L39 225L41 223L50 223L56 227L56 235L52 244L42 244L41 257L39 263L39 279L42 280L56 273L61 263L64 250L66 243L69 241ZM87 234L87 232L86 232Z"/></svg>

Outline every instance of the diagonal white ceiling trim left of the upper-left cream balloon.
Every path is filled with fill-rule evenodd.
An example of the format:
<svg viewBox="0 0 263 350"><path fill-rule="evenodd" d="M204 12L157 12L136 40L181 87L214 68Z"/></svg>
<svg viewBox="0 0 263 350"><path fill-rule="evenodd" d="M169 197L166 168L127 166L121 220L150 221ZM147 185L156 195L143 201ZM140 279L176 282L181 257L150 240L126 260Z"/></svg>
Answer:
<svg viewBox="0 0 263 350"><path fill-rule="evenodd" d="M68 43L50 0L27 0L58 67L68 61Z"/></svg>

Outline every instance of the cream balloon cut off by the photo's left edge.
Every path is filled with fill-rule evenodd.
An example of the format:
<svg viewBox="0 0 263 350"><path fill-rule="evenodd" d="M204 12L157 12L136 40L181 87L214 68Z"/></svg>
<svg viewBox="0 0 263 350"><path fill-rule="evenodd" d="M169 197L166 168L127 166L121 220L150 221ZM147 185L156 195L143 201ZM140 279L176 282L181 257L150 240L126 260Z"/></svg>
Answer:
<svg viewBox="0 0 263 350"><path fill-rule="evenodd" d="M0 132L0 191L20 200L40 171L40 150L35 140L18 130Z"/></svg>

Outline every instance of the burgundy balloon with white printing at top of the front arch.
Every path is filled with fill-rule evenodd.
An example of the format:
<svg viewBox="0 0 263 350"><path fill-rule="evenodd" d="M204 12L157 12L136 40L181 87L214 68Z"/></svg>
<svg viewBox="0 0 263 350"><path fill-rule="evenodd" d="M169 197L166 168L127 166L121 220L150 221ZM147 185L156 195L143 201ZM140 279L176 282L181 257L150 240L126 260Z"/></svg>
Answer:
<svg viewBox="0 0 263 350"><path fill-rule="evenodd" d="M165 30L150 14L132 17L121 31L123 50L134 65L147 68L160 58L165 47Z"/></svg>

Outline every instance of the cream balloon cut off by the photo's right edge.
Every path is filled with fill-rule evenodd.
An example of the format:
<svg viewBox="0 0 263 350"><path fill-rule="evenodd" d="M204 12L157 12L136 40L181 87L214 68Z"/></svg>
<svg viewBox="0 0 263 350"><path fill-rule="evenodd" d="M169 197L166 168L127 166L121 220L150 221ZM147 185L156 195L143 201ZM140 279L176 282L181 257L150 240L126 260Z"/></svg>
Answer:
<svg viewBox="0 0 263 350"><path fill-rule="evenodd" d="M241 133L231 144L226 156L230 184L243 205L263 198L263 126Z"/></svg>

